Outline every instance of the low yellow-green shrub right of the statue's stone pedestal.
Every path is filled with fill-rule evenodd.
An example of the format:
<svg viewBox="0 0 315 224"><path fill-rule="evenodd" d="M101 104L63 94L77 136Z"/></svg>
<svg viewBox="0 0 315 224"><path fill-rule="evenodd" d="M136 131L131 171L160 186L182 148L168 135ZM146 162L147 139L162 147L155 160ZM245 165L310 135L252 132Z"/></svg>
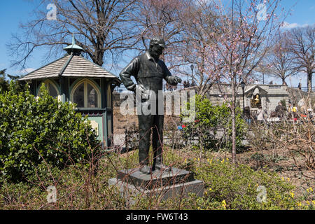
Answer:
<svg viewBox="0 0 315 224"><path fill-rule="evenodd" d="M283 181L274 172L254 171L247 165L233 165L224 160L209 160L195 165L197 179L205 183L205 198L222 202L225 209L295 209L292 197L294 186ZM265 202L258 202L262 186L266 190Z"/></svg>

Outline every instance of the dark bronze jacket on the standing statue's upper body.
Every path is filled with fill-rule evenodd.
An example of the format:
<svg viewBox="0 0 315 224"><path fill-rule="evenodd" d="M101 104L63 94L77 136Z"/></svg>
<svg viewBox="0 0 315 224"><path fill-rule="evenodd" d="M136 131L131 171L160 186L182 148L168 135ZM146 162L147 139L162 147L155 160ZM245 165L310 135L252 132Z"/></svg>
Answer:
<svg viewBox="0 0 315 224"><path fill-rule="evenodd" d="M120 78L127 90L134 91L136 84L130 76L134 76L138 84L144 85L146 90L152 90L158 95L158 91L162 90L162 80L165 78L169 83L168 77L172 76L162 60L151 57L149 52L139 55L132 59L123 71L120 72Z"/></svg>

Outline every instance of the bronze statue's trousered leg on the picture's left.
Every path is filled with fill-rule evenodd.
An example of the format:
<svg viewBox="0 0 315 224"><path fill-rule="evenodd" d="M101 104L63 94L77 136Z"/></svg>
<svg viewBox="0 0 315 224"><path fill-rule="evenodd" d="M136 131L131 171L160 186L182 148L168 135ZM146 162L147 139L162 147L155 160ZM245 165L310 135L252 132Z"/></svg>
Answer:
<svg viewBox="0 0 315 224"><path fill-rule="evenodd" d="M139 164L140 171L149 174L148 168L148 152L150 149L151 127L153 124L153 116L138 115L139 120Z"/></svg>

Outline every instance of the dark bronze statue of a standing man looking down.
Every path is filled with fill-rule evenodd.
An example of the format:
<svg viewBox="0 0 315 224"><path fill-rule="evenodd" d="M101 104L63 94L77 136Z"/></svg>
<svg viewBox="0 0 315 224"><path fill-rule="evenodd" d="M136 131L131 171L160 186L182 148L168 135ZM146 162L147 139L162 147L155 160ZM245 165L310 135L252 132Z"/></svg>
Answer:
<svg viewBox="0 0 315 224"><path fill-rule="evenodd" d="M162 60L159 59L165 49L165 41L161 38L153 38L150 41L150 47L143 55L132 59L123 71L120 72L120 78L127 90L142 93L154 92L158 96L159 90L162 91L163 78L170 85L181 83L181 78L172 76ZM130 76L137 80L135 84ZM150 100L146 95L142 97L141 104ZM158 111L158 100L155 101ZM163 141L163 123L164 114L150 113L148 115L139 114L139 164L140 171L144 174L151 173L151 167L148 166L148 152L150 148L151 130L153 131L153 167L152 169L163 169L169 171L170 167L162 164L162 141Z"/></svg>

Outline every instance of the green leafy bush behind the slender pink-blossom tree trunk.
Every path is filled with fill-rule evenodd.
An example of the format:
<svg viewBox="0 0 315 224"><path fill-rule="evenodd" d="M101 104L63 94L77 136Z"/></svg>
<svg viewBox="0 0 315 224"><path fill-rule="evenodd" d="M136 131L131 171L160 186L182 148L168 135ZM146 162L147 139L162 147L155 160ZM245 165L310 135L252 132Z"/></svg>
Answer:
<svg viewBox="0 0 315 224"><path fill-rule="evenodd" d="M188 103L188 108L190 103ZM183 111L182 116L185 114ZM221 130L221 134L218 134ZM246 123L241 118L241 110L236 114L237 148L246 135ZM212 151L232 148L232 120L228 104L214 105L209 99L195 96L195 123L187 123L183 128L183 138L187 141L197 137L199 147Z"/></svg>

